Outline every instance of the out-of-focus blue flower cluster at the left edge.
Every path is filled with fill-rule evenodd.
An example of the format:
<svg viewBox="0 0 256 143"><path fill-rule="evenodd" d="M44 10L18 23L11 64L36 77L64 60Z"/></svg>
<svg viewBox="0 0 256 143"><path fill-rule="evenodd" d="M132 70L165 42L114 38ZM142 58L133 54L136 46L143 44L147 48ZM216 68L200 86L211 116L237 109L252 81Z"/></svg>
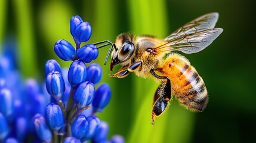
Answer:
<svg viewBox="0 0 256 143"><path fill-rule="evenodd" d="M35 79L23 80L16 51L15 38L7 37L0 57L0 142L37 142L32 118L44 115L50 99Z"/></svg>

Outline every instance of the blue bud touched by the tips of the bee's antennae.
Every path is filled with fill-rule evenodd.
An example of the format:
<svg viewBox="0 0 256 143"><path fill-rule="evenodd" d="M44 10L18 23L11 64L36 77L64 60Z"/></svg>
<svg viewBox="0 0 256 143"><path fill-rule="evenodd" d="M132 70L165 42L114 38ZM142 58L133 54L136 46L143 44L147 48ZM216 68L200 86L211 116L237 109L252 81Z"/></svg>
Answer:
<svg viewBox="0 0 256 143"><path fill-rule="evenodd" d="M76 55L79 60L90 63L98 57L98 49L94 44L84 45L78 49Z"/></svg>

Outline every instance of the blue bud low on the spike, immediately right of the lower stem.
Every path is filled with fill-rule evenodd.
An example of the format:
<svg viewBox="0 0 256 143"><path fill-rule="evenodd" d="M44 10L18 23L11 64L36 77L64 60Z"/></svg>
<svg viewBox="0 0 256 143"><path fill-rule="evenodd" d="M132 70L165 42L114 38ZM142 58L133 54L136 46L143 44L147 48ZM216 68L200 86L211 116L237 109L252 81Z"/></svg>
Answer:
<svg viewBox="0 0 256 143"><path fill-rule="evenodd" d="M79 115L71 126L72 136L82 139L88 132L88 121L84 115Z"/></svg>

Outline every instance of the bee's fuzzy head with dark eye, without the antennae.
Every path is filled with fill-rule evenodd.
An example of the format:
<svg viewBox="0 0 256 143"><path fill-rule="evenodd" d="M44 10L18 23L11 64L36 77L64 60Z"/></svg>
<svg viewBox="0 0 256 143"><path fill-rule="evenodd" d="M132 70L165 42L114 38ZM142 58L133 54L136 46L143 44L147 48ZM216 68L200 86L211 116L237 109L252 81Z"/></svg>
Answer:
<svg viewBox="0 0 256 143"><path fill-rule="evenodd" d="M116 38L116 48L112 51L110 70L117 64L128 64L128 60L134 54L134 35L128 33L122 33Z"/></svg>

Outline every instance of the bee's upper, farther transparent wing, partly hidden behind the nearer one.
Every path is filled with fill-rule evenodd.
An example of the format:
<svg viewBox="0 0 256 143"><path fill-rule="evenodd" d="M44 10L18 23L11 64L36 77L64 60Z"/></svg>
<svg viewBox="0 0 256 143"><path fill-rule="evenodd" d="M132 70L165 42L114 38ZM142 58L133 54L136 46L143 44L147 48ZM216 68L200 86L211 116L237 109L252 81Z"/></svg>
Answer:
<svg viewBox="0 0 256 143"><path fill-rule="evenodd" d="M195 18L195 20L192 20L179 29L175 30L175 32L167 36L164 41L171 42L196 32L213 29L217 21L218 13L208 13L202 15L201 17Z"/></svg>

